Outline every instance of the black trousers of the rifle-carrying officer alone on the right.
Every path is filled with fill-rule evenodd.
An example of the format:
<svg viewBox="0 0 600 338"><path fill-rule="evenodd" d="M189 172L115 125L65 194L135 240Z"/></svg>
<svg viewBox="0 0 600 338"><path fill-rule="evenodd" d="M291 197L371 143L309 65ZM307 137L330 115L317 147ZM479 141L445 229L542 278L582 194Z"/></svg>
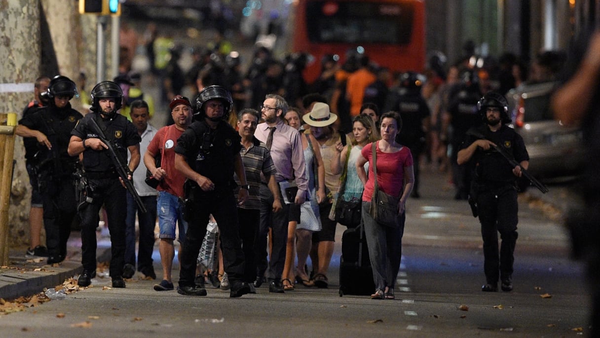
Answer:
<svg viewBox="0 0 600 338"><path fill-rule="evenodd" d="M479 191L477 196L481 237L484 241L484 271L487 283L512 276L513 253L517 244L517 190L512 186ZM498 232L500 256L498 255Z"/></svg>

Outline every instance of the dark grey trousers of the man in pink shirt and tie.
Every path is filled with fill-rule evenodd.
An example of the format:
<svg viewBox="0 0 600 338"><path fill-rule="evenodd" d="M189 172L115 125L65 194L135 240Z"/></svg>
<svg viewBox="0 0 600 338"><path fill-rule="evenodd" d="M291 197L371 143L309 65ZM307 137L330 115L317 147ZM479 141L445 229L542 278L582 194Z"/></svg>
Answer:
<svg viewBox="0 0 600 338"><path fill-rule="evenodd" d="M286 263L286 244L287 244L287 223L289 220L289 205L283 202L283 208L278 213L273 213L273 194L265 185L260 185L260 226L256 238L256 261L259 274L264 273L266 267L269 268L267 278L269 281L275 279L281 280L283 274L283 266ZM266 236L271 231L271 259L266 263L267 245ZM260 276L260 275L259 275Z"/></svg>

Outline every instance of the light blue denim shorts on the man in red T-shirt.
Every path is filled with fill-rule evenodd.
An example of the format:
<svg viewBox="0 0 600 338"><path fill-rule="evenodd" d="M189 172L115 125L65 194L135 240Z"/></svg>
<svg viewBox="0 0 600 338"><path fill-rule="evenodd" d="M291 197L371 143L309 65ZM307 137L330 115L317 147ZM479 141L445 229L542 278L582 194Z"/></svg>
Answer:
<svg viewBox="0 0 600 338"><path fill-rule="evenodd" d="M159 238L175 240L175 225L179 229L179 243L184 243L185 232L187 231L187 222L182 217L183 206L179 203L179 198L167 192L158 192L156 202L158 215L158 228L160 229Z"/></svg>

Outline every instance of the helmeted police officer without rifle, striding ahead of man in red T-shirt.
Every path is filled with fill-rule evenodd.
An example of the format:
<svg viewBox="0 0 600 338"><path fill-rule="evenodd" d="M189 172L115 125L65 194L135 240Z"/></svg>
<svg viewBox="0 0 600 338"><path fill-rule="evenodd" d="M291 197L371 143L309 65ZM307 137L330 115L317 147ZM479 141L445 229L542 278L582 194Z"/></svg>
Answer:
<svg viewBox="0 0 600 338"><path fill-rule="evenodd" d="M229 277L229 297L250 292L242 282L244 253L239 238L238 212L233 189L233 173L240 181L237 204L248 198L248 181L239 150L241 137L227 124L232 98L222 86L208 86L196 98L194 121L177 140L175 168L187 177L185 183L185 218L188 230L181 253L179 287L182 295L206 295L203 282L196 285L196 259L206 234L209 215L217 221L223 250L224 270ZM188 214L193 210L193 215ZM201 279L200 279L201 280Z"/></svg>

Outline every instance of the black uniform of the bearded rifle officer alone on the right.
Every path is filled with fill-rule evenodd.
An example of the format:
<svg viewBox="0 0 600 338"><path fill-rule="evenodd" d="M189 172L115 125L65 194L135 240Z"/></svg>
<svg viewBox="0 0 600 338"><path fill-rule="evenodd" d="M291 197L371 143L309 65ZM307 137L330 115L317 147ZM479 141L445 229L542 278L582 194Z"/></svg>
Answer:
<svg viewBox="0 0 600 338"><path fill-rule="evenodd" d="M502 125L493 132L487 125L475 128L488 140L502 147L518 163L529 161L523 138L517 132ZM467 148L477 139L469 136L461 146ZM484 242L484 271L488 285L498 280L511 279L514 250L517 243L518 203L517 177L514 167L494 148L484 151L478 148L470 160L473 164L472 197L475 199ZM498 232L502 238L498 256Z"/></svg>

